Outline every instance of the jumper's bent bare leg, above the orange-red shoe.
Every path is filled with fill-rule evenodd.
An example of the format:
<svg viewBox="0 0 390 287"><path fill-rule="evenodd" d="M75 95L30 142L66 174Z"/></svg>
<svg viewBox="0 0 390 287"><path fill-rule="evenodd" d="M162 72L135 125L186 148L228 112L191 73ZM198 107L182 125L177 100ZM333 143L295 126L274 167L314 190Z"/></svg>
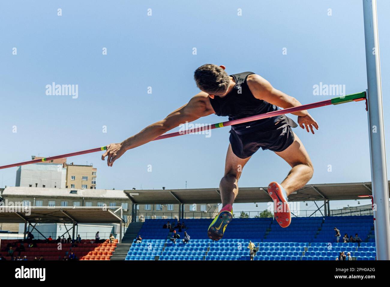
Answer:
<svg viewBox="0 0 390 287"><path fill-rule="evenodd" d="M280 184L285 189L287 196L293 191L305 186L313 176L313 165L310 157L299 137L294 133L294 142L283 152L275 152L291 167L291 171Z"/></svg>

